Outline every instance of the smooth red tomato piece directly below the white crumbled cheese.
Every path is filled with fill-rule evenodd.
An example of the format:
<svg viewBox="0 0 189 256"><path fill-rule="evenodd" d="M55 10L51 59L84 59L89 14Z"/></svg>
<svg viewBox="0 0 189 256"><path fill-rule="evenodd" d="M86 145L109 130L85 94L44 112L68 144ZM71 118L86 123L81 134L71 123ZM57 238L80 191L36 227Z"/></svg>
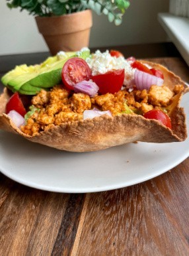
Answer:
<svg viewBox="0 0 189 256"><path fill-rule="evenodd" d="M125 70L114 70L105 74L92 76L93 82L99 87L100 94L115 94L124 84Z"/></svg>

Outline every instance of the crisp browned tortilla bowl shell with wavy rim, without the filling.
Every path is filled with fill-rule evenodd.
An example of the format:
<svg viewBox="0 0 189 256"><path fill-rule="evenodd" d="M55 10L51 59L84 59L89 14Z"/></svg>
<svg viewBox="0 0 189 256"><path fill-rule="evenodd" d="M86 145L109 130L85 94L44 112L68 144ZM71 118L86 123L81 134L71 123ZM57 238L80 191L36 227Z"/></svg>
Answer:
<svg viewBox="0 0 189 256"><path fill-rule="evenodd" d="M185 88L183 93L188 92L186 84L164 66L147 61L141 62L161 70L165 78L164 85L170 90L173 90L176 84L183 84ZM98 151L135 141L180 142L187 137L184 109L179 106L183 93L177 94L170 105L171 130L155 119L145 119L142 115L122 114L114 117L102 115L93 119L63 123L48 131L42 131L39 135L28 136L22 133L5 114L5 106L9 100L9 94L5 88L0 96L0 129L17 133L35 143L72 152Z"/></svg>

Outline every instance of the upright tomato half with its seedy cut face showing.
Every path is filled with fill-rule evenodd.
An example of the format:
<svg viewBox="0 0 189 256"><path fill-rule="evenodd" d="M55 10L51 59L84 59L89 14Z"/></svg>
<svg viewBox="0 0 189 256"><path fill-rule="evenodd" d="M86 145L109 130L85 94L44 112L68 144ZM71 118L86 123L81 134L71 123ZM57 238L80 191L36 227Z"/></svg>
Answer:
<svg viewBox="0 0 189 256"><path fill-rule="evenodd" d="M73 90L75 84L91 78L91 69L82 58L73 57L65 62L61 70L61 80L65 87Z"/></svg>

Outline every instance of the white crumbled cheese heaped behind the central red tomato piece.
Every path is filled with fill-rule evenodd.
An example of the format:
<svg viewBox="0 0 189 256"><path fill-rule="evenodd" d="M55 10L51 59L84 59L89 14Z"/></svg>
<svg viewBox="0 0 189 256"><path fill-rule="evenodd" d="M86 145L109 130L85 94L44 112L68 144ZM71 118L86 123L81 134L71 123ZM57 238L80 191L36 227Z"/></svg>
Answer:
<svg viewBox="0 0 189 256"><path fill-rule="evenodd" d="M125 70L124 86L131 86L134 79L135 68L132 68L132 62L126 60L124 57L112 57L108 50L100 52L96 50L91 57L86 59L89 67L92 70L92 75L104 74L111 70Z"/></svg>

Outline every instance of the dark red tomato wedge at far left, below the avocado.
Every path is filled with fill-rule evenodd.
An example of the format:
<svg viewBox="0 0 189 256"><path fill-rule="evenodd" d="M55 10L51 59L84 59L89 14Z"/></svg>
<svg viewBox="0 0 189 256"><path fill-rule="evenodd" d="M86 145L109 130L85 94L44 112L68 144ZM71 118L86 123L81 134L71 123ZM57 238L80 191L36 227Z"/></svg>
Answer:
<svg viewBox="0 0 189 256"><path fill-rule="evenodd" d="M22 117L24 117L26 114L26 109L19 97L18 92L15 92L15 94L10 97L6 105L5 113L9 113L11 110L17 111L20 115L22 115Z"/></svg>

